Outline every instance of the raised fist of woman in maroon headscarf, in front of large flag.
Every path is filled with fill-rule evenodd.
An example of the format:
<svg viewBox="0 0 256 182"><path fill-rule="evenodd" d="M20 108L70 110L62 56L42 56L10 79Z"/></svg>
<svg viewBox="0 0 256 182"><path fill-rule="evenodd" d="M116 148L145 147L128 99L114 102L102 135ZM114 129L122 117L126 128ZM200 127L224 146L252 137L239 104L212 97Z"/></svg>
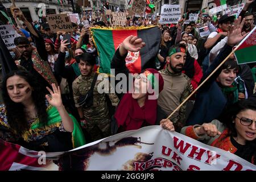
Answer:
<svg viewBox="0 0 256 182"><path fill-rule="evenodd" d="M125 55L127 51L138 52L146 44L142 42L142 39L139 39L137 36L130 35L121 44L119 51L121 55Z"/></svg>

